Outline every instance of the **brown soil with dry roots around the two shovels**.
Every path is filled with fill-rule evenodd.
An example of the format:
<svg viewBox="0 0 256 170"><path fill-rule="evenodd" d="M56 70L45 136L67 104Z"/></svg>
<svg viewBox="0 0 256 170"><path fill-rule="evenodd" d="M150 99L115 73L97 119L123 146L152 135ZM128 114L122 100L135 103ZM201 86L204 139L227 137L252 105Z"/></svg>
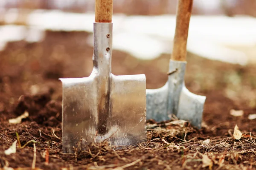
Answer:
<svg viewBox="0 0 256 170"><path fill-rule="evenodd" d="M256 169L255 66L232 65L188 54L186 86L207 96L203 127L188 122L147 121L147 142L116 149L107 141L76 153L62 153L61 99L58 78L87 77L93 68L93 48L86 32L47 31L42 42L9 42L0 51L0 167L31 169ZM112 73L145 74L147 88L167 80L169 55L142 61L113 51ZM232 116L230 110L242 110ZM9 119L24 112L21 123ZM243 133L233 139L237 125ZM6 155L15 140L17 151ZM25 146L24 146L25 145Z"/></svg>

